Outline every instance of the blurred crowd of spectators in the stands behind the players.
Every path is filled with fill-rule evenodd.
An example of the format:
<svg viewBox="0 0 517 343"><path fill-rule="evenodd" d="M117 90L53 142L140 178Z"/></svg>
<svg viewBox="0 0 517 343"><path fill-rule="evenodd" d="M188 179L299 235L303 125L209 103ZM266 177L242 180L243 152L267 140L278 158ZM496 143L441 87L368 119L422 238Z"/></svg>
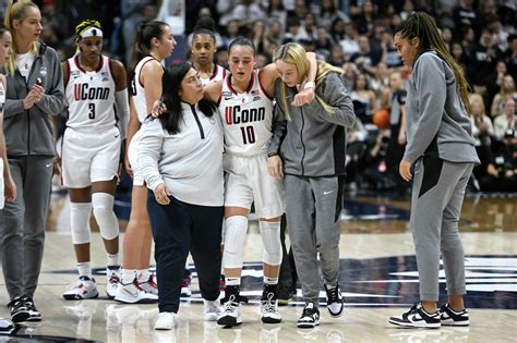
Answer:
<svg viewBox="0 0 517 343"><path fill-rule="evenodd" d="M0 0L0 13L4 13L4 2ZM35 2L44 17L41 39L62 60L74 52L75 25L96 19L104 26L106 52L128 64L137 24L153 20L163 1ZM296 41L341 68L358 117L349 132L347 184L350 189L395 189L404 195L408 186L398 175L398 160L393 158L398 155L393 151L404 149L405 137L398 130L402 115L395 112L404 105L401 89L409 70L398 57L393 32L417 10L436 19L471 86L471 118L482 163L474 169L470 189L517 191L514 1L189 0L184 36L189 44L197 20L211 16L218 25L216 59L220 65L227 65L229 42L244 35L254 41L261 65L270 62L275 47ZM189 53L184 58L189 60Z"/></svg>

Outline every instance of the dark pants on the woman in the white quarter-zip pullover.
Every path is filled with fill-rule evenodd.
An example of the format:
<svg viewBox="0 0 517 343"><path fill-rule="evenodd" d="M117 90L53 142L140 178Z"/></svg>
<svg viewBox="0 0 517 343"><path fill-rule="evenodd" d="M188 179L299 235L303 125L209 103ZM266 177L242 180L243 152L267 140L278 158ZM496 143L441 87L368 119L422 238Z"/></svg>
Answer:
<svg viewBox="0 0 517 343"><path fill-rule="evenodd" d="M172 196L169 198L167 206L156 203L153 192L147 198L160 313L178 313L189 249L197 270L202 297L215 301L219 296L223 206L197 206Z"/></svg>

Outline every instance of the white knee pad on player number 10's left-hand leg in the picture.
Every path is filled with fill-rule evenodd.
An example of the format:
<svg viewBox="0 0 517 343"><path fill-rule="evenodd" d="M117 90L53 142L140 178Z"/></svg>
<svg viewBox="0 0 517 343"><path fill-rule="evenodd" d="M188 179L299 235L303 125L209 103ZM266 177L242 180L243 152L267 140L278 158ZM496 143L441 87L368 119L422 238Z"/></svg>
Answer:
<svg viewBox="0 0 517 343"><path fill-rule="evenodd" d="M225 252L223 254L223 267L242 268L244 254L245 233L248 231L248 218L233 216L226 219Z"/></svg>

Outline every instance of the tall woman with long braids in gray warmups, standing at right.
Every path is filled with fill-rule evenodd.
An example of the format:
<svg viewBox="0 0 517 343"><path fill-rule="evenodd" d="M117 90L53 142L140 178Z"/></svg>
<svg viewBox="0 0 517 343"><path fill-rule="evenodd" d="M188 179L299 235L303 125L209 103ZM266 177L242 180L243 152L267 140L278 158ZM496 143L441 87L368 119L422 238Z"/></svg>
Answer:
<svg viewBox="0 0 517 343"><path fill-rule="evenodd" d="M404 64L411 68L406 101L408 142L399 173L406 181L413 180L409 224L420 302L389 322L407 328L468 326L458 221L465 188L473 164L479 163L468 115L468 84L428 14L411 14L397 28L395 46ZM440 257L448 302L438 310Z"/></svg>

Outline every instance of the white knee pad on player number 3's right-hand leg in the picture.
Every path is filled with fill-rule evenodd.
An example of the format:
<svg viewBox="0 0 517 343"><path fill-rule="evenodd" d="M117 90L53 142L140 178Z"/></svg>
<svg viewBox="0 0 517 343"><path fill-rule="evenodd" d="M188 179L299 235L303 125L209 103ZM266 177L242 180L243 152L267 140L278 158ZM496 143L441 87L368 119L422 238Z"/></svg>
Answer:
<svg viewBox="0 0 517 343"><path fill-rule="evenodd" d="M107 193L92 194L94 216L100 229L103 238L109 241L119 235L119 222L113 212L113 196Z"/></svg>

